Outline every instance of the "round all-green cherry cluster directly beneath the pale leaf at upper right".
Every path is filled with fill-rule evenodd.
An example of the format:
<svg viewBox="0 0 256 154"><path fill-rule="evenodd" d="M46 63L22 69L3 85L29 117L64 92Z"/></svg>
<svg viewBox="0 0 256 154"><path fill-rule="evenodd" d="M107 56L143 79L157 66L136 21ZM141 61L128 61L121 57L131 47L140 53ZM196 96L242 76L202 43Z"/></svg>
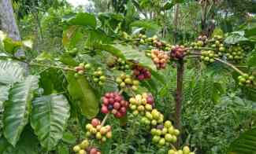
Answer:
<svg viewBox="0 0 256 154"><path fill-rule="evenodd" d="M243 48L239 45L236 45L230 46L227 49L226 56L229 61L241 61L245 55Z"/></svg>

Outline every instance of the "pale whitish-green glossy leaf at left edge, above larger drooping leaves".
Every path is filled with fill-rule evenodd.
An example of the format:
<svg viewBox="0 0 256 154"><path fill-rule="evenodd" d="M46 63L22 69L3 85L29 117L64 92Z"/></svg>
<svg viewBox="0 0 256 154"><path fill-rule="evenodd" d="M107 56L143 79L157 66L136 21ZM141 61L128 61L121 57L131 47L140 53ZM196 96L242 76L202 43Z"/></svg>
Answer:
<svg viewBox="0 0 256 154"><path fill-rule="evenodd" d="M24 69L13 61L0 61L0 83L17 83L24 79Z"/></svg>

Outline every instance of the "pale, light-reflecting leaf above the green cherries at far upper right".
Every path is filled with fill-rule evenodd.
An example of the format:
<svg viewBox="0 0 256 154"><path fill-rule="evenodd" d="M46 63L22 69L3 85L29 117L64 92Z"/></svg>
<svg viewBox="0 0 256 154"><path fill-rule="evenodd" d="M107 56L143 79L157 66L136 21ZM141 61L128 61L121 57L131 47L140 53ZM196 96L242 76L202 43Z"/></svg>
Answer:
<svg viewBox="0 0 256 154"><path fill-rule="evenodd" d="M234 31L232 35L229 35L224 39L226 44L236 44L239 42L248 41L249 39L244 36L244 31Z"/></svg>

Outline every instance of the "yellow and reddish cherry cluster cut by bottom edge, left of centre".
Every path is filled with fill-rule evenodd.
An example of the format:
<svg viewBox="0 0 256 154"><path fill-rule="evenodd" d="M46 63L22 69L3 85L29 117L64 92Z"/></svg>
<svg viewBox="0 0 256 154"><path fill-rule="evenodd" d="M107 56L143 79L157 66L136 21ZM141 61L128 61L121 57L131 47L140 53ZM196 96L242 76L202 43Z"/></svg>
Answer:
<svg viewBox="0 0 256 154"><path fill-rule="evenodd" d="M98 148L90 147L90 142L85 139L83 140L80 145L76 145L73 147L73 151L76 152L76 154L101 154L98 150Z"/></svg>

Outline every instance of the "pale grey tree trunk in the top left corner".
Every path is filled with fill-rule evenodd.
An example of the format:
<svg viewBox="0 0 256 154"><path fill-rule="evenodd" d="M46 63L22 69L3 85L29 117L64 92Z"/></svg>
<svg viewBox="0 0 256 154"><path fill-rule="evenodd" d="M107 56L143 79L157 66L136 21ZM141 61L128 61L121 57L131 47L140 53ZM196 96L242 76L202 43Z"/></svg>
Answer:
<svg viewBox="0 0 256 154"><path fill-rule="evenodd" d="M20 31L14 17L11 0L0 0L0 29L13 40L20 40Z"/></svg>

